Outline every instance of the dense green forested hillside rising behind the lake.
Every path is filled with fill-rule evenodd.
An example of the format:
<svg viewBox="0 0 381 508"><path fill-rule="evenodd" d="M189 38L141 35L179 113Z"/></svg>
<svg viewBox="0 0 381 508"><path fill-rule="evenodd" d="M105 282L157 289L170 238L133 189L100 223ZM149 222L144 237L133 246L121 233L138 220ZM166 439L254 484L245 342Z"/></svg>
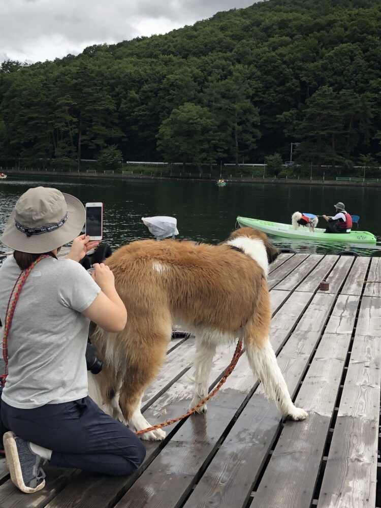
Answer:
<svg viewBox="0 0 381 508"><path fill-rule="evenodd" d="M379 0L268 0L0 68L0 163L381 161ZM25 163L23 162L22 165Z"/></svg>

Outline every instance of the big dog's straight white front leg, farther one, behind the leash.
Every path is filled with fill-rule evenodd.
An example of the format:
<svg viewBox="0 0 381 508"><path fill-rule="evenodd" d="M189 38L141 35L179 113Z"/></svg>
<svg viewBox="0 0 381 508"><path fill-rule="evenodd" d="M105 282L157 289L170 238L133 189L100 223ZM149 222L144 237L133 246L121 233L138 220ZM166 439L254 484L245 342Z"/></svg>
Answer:
<svg viewBox="0 0 381 508"><path fill-rule="evenodd" d="M208 395L209 375L212 368L215 350L216 346L214 344L210 344L204 339L199 339L197 341L194 362L195 385L193 390L193 399L189 404L189 409L195 407L195 405ZM206 411L206 404L197 410L197 412L204 411Z"/></svg>

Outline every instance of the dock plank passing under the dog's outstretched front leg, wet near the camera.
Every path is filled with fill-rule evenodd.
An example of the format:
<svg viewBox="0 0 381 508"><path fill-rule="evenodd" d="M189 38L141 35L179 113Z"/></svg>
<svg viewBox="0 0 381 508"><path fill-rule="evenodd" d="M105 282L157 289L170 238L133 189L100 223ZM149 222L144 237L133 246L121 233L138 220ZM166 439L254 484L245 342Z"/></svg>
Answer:
<svg viewBox="0 0 381 508"><path fill-rule="evenodd" d="M333 303L333 295L326 297L316 295L313 306L308 307L278 356L279 367L291 394L299 386ZM316 310L320 314L320 328L311 331L310 324L314 320L307 314L314 314ZM306 333L306 330L309 332ZM277 435L279 425L280 416L275 407L264 398L260 386L190 495L185 504L186 508L245 506ZM299 424L290 422L290 425ZM252 506L261 504L254 502Z"/></svg>

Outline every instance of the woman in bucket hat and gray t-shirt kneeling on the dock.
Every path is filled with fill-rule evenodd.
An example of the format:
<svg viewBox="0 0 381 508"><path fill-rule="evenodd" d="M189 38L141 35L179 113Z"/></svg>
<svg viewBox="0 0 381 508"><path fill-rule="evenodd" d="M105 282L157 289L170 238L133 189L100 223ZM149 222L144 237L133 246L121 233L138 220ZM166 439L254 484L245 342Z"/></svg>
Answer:
<svg viewBox="0 0 381 508"><path fill-rule="evenodd" d="M0 319L22 272L30 271L8 334L8 377L1 418L13 483L23 492L45 485L44 463L106 474L130 474L145 448L135 434L87 396L85 350L90 320L111 332L124 328L126 309L103 263L91 277L78 263L99 242L78 236L82 203L47 187L27 190L0 238L14 249L0 270ZM65 260L61 245L73 240ZM3 344L4 346L4 344Z"/></svg>

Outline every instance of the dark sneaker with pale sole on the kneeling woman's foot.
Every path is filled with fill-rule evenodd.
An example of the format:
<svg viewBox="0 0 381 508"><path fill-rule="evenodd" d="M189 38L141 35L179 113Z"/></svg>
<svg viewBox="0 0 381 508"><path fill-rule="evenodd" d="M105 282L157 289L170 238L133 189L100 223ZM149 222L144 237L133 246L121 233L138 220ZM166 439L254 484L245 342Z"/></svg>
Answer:
<svg viewBox="0 0 381 508"><path fill-rule="evenodd" d="M22 492L31 494L45 487L44 460L31 451L28 441L6 432L3 437L5 454L12 482Z"/></svg>

